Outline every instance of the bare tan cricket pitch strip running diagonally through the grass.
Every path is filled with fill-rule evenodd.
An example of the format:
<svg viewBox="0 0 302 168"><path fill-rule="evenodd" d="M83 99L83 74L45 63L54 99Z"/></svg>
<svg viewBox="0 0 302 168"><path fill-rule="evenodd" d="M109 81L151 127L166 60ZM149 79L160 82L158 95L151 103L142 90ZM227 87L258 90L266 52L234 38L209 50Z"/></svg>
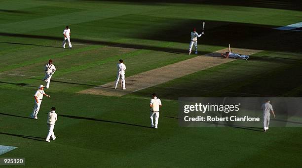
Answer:
<svg viewBox="0 0 302 168"><path fill-rule="evenodd" d="M96 94L106 96L122 96L128 93L136 92L157 84L162 84L176 78L180 78L201 70L205 70L220 64L224 64L236 59L227 59L221 56L221 53L225 53L228 48L196 56L181 62L170 64L164 67L153 69L147 72L136 74L125 78L126 90L120 87L120 83L117 84L117 89L114 89L115 82L103 84L97 87L89 88L79 91L83 94ZM262 50L244 49L244 48L232 48L234 53L251 55ZM242 60L245 61L245 60ZM127 72L126 72L127 75Z"/></svg>

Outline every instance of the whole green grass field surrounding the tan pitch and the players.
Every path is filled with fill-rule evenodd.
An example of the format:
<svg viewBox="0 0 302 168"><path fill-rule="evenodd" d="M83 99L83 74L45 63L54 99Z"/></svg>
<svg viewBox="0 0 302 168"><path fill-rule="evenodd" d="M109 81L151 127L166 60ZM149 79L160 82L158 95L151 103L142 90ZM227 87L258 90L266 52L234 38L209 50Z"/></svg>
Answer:
<svg viewBox="0 0 302 168"><path fill-rule="evenodd" d="M221 3L221 4L220 4ZM298 4L297 4L298 3ZM246 6L248 7L246 7ZM280 31L302 20L301 2L251 0L1 0L0 157L24 157L26 167L301 167L302 128L179 127L178 97L302 97L302 32ZM261 49L235 60L121 97L76 92L114 81L118 59L126 77L233 47ZM73 49L61 48L71 28ZM33 94L53 59L57 72L38 121ZM202 62L201 62L202 64ZM9 75L10 74L10 75ZM126 83L127 84L127 83ZM150 94L162 99L151 129ZM57 139L44 141L55 106ZM277 112L278 114L278 112Z"/></svg>

